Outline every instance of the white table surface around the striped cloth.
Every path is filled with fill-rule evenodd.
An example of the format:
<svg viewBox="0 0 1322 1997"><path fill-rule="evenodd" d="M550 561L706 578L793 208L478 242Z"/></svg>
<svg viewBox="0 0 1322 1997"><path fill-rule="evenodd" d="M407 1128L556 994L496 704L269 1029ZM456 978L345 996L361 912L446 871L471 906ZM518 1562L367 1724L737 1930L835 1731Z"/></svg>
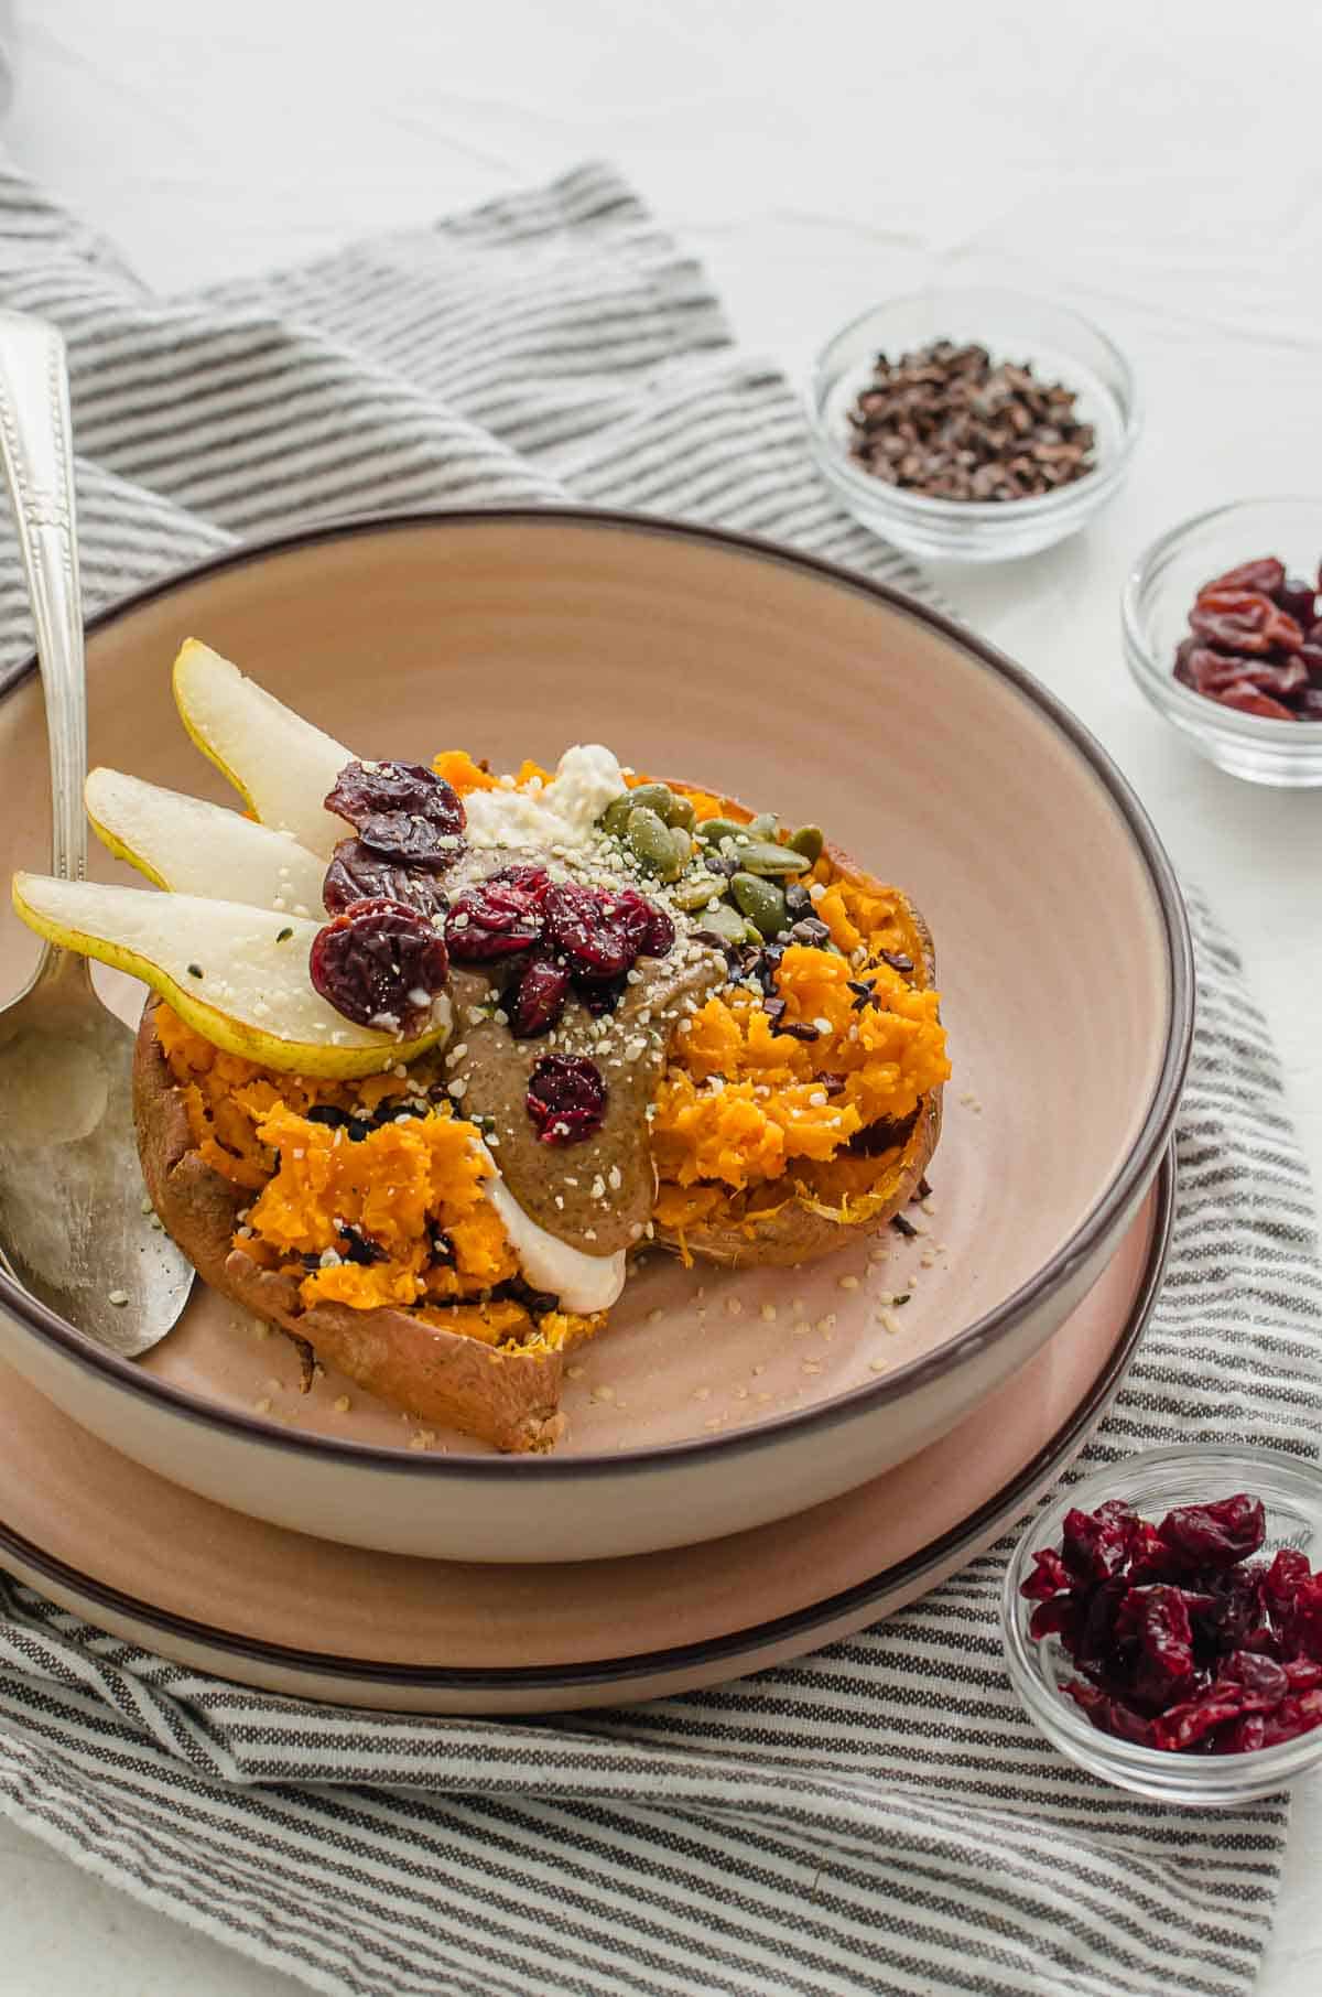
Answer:
<svg viewBox="0 0 1322 1997"><path fill-rule="evenodd" d="M1124 571L1162 527L1322 485L1312 0L18 8L14 156L162 290L326 254L603 156L701 252L743 339L795 371L845 314L935 272L1058 290L1104 320L1148 403L1128 491L1062 549L941 581L1074 705L1176 865L1212 891L1322 1178L1322 793L1200 763L1130 689L1116 637ZM1314 1779L1262 1997L1322 1983L1320 1843ZM0 1825L0 1987L302 1985Z"/></svg>

